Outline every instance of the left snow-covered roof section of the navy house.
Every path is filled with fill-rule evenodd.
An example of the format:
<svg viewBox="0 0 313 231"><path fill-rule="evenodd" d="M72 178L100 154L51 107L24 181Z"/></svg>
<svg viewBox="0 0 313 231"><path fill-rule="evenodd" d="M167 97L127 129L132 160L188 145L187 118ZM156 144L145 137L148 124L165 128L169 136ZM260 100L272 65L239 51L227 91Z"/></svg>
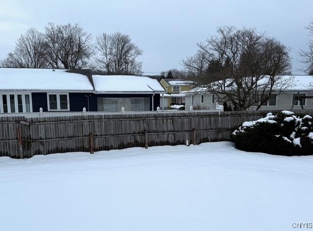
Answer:
<svg viewBox="0 0 313 231"><path fill-rule="evenodd" d="M0 68L2 91L93 91L88 77L64 69Z"/></svg>

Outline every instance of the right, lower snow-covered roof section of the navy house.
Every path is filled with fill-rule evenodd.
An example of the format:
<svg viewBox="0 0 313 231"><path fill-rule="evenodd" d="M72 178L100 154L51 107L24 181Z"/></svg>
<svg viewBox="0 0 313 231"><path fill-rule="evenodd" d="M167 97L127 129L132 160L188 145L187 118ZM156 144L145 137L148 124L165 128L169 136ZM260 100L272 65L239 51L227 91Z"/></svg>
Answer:
<svg viewBox="0 0 313 231"><path fill-rule="evenodd" d="M133 75L92 75L96 92L165 92L156 79Z"/></svg>

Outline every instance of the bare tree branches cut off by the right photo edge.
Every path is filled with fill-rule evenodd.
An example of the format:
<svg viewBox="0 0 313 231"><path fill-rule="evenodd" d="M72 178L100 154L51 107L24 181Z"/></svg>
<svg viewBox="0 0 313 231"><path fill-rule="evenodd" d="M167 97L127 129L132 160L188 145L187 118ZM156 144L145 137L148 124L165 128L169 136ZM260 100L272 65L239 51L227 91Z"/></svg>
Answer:
<svg viewBox="0 0 313 231"><path fill-rule="evenodd" d="M309 26L306 27L309 31L309 36L313 36L313 20L309 24ZM310 75L313 75L313 39L310 39L307 44L307 49L303 50L300 49L300 56L302 58L302 63L306 65L306 68L304 71L308 72Z"/></svg>

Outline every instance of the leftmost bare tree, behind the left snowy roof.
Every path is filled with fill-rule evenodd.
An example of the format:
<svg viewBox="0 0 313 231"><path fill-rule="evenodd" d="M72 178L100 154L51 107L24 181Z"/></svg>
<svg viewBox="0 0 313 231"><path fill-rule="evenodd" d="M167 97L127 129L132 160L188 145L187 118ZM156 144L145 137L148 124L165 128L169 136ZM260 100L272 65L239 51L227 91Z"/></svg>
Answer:
<svg viewBox="0 0 313 231"><path fill-rule="evenodd" d="M16 41L15 49L1 61L8 68L46 68L44 35L36 28L29 28Z"/></svg>

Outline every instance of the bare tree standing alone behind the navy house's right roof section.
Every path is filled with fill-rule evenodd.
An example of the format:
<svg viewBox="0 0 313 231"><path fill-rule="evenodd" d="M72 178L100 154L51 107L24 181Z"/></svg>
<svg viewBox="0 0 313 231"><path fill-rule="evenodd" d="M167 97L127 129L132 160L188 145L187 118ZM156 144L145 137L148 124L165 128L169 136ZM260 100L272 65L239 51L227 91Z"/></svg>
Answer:
<svg viewBox="0 0 313 231"><path fill-rule="evenodd" d="M102 33L96 37L97 57L99 69L108 74L141 74L142 63L137 58L143 51L132 43L129 35L115 32Z"/></svg>

